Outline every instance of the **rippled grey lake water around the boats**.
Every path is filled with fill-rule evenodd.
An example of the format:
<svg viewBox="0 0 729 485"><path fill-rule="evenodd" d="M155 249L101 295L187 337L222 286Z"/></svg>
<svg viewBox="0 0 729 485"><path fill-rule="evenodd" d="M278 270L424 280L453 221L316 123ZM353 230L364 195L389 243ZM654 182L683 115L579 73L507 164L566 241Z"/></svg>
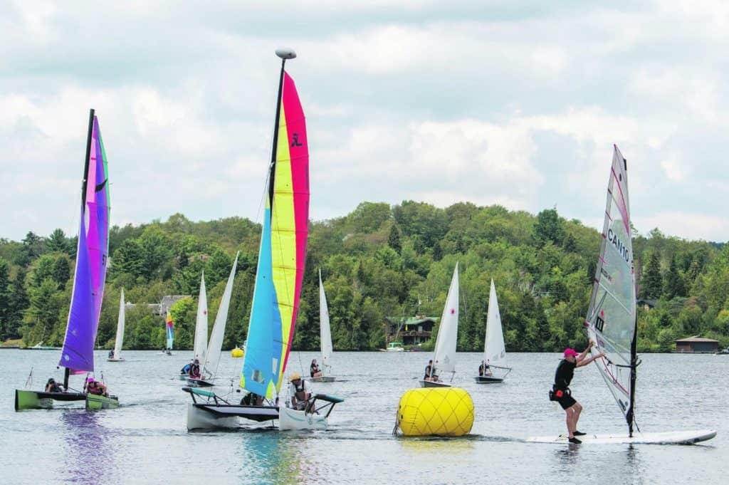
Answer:
<svg viewBox="0 0 729 485"><path fill-rule="evenodd" d="M2 473L9 484L686 484L729 482L729 356L645 354L636 419L645 432L712 428L695 446L553 445L530 435L564 432L564 411L547 400L558 354L509 354L514 368L500 385L472 383L481 355L458 354L456 382L475 404L464 438L391 434L399 397L416 387L429 359L419 352L338 352L343 381L313 384L343 397L330 429L279 432L260 425L233 432L187 432L190 396L179 368L192 352L168 357L124 352L126 362L96 353L115 410L13 410L15 388L31 367L34 389L57 370L60 351L0 350ZM292 352L289 372L308 370L314 352ZM238 379L241 359L225 353L219 375ZM303 373L303 372L302 372ZM100 373L96 374L97 377ZM81 387L72 376L71 386ZM624 432L615 401L593 366L580 368L573 395L585 406L580 430ZM219 389L225 392L225 389ZM78 406L78 403L76 403Z"/></svg>

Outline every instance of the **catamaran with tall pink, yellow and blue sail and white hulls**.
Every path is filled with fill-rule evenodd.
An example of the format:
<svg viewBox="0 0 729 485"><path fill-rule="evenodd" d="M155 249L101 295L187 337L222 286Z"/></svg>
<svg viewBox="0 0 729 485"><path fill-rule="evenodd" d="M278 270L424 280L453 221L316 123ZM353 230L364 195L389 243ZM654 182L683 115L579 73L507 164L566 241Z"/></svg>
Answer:
<svg viewBox="0 0 729 485"><path fill-rule="evenodd" d="M326 427L329 413L324 408L328 406L331 411L335 404L326 401L328 396L315 395L307 411L288 413L285 411L288 408L279 406L306 260L309 156L303 109L294 80L284 69L286 60L295 58L296 53L281 49L276 50L276 55L281 58L276 122L240 383L248 395L237 403L206 389L184 387L192 397L187 407L188 430L235 427L240 417L273 422L279 419L279 410L286 414L279 421L281 429L287 429L289 422L304 427ZM326 404L317 408L316 400L324 400Z"/></svg>

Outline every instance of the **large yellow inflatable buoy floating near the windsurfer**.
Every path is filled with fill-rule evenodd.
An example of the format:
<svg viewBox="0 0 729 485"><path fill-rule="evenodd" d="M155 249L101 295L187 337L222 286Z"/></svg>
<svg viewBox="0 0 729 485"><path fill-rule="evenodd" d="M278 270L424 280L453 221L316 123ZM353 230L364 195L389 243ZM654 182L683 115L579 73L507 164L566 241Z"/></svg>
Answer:
<svg viewBox="0 0 729 485"><path fill-rule="evenodd" d="M397 408L397 425L405 436L467 435L473 417L471 396L457 387L410 389Z"/></svg>

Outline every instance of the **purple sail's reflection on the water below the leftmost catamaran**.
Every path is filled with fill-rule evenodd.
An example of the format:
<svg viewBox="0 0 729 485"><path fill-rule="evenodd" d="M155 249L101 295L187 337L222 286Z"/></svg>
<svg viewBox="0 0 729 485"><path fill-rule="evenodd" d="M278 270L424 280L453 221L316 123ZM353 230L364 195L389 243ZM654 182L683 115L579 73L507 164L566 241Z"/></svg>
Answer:
<svg viewBox="0 0 729 485"><path fill-rule="evenodd" d="M95 412L69 410L61 415L65 427L66 473L78 484L111 483L109 470L114 466L109 431Z"/></svg>

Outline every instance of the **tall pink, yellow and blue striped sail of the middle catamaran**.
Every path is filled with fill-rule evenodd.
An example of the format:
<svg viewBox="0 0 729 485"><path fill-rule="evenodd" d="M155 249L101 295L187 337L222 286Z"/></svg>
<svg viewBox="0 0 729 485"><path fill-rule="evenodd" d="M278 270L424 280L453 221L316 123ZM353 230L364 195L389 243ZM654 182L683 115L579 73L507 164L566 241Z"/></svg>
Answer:
<svg viewBox="0 0 729 485"><path fill-rule="evenodd" d="M267 398L281 388L306 260L309 154L294 80L281 69L268 197L241 387Z"/></svg>

